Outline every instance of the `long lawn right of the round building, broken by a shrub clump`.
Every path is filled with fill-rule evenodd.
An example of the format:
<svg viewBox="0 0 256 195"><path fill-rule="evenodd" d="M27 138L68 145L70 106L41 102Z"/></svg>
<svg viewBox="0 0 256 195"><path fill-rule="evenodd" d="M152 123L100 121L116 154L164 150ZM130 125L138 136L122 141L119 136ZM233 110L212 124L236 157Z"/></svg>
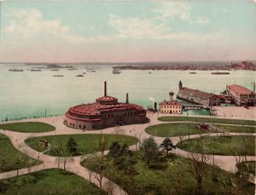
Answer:
<svg viewBox="0 0 256 195"><path fill-rule="evenodd" d="M145 131L149 135L159 137L175 137L184 135L206 134L210 133L208 130L200 130L196 127L197 123L162 123L148 127ZM232 126L211 124L210 129L212 133L218 133L218 130L235 133L255 133L255 127Z"/></svg>

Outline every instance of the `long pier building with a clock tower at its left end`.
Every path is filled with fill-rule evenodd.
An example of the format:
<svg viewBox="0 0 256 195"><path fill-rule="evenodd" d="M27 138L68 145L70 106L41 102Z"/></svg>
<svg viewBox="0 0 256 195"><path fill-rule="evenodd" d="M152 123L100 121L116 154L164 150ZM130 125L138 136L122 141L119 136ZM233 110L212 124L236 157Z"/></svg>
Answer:
<svg viewBox="0 0 256 195"><path fill-rule="evenodd" d="M185 88L183 87L183 83L181 81L178 83L178 89L177 98L181 100L187 100L203 106L218 106L220 104L218 95L207 93L198 89Z"/></svg>

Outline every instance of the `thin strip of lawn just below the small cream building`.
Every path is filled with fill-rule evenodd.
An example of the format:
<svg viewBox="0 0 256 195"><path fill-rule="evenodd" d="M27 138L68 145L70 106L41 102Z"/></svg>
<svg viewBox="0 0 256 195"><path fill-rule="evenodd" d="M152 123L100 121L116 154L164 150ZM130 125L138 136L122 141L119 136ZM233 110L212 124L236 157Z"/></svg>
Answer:
<svg viewBox="0 0 256 195"><path fill-rule="evenodd" d="M256 121L225 119L225 118L161 117L158 119L160 121L165 121L165 122L192 121L192 122L201 122L201 123L230 123L230 124L256 125Z"/></svg>

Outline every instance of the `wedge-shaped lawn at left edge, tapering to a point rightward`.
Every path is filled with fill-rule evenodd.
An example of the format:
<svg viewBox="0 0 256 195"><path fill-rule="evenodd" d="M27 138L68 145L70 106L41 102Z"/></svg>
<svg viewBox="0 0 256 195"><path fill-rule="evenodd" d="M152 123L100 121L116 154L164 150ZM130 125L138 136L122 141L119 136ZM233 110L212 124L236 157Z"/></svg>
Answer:
<svg viewBox="0 0 256 195"><path fill-rule="evenodd" d="M15 149L9 137L0 134L0 173L42 163Z"/></svg>

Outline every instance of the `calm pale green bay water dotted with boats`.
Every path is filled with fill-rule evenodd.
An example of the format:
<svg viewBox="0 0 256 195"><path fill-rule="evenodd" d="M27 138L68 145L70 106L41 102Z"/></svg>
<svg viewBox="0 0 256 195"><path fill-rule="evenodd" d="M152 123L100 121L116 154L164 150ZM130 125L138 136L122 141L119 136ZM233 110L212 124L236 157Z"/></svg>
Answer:
<svg viewBox="0 0 256 195"><path fill-rule="evenodd" d="M103 95L103 82L108 81L108 95L125 101L126 92L132 103L154 106L154 101L168 100L168 92L177 94L177 84L203 91L220 93L226 84L240 84L252 89L256 72L231 71L230 75L212 75L212 71L133 71L113 74L111 66L100 66L96 72L86 72L86 66L78 70L60 69L58 72L42 69L31 72L31 66L0 66L0 120L4 118L33 118L64 114L68 107L94 102ZM90 66L91 67L91 66ZM9 72L11 68L24 72ZM75 77L86 72L84 77ZM61 74L64 77L53 77ZM206 111L190 111L189 114L209 114ZM186 114L186 113L184 113Z"/></svg>

